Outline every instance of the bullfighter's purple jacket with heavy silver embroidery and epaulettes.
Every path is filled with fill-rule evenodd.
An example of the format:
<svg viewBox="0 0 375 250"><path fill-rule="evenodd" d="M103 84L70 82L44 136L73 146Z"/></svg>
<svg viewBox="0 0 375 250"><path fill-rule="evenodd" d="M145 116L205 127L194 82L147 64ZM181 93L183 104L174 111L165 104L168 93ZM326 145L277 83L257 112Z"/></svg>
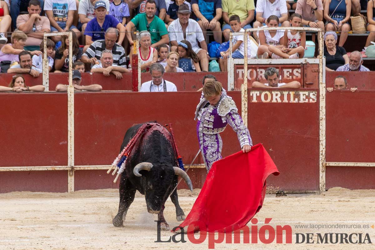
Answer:
<svg viewBox="0 0 375 250"><path fill-rule="evenodd" d="M236 103L232 97L226 94L223 89L222 95L216 106L212 106L205 97L201 96L195 111L195 119L198 118L198 133L217 134L225 130L229 124L240 141L241 148L244 145L251 145L252 140L248 128L243 124L242 118L238 114Z"/></svg>

